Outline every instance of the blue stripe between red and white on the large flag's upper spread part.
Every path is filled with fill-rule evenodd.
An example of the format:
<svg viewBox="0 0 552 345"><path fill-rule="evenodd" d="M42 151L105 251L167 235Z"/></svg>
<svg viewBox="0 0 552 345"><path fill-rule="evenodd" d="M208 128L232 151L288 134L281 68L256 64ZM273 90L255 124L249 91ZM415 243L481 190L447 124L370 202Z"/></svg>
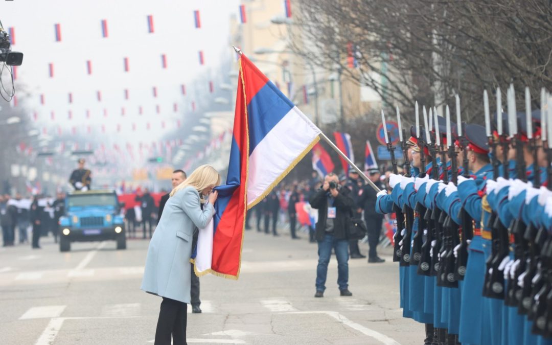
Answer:
<svg viewBox="0 0 552 345"><path fill-rule="evenodd" d="M272 82L267 82L254 95L247 105L250 155L259 142L293 107L294 104Z"/></svg>

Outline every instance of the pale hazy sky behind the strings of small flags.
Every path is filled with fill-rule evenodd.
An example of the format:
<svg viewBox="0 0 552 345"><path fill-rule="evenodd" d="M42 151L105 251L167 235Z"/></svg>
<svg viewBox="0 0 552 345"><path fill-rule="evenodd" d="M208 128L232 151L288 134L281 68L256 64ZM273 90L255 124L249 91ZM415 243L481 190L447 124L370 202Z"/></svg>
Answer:
<svg viewBox="0 0 552 345"><path fill-rule="evenodd" d="M238 6L237 0L0 1L4 29L13 26L15 30L12 50L24 53L17 71L16 95L23 99L24 94L17 90L22 91L18 84L24 84L30 92L24 107L38 112L38 128L49 126L50 134L61 125L64 131L77 126L77 135L86 136L86 125L91 124L93 135L103 135L100 124L104 123L106 134L116 134L122 143L151 142L162 134L161 120L167 128L176 125L174 103L179 112L190 109L192 79L219 65L223 54L231 54L229 20L238 15ZM200 11L200 29L194 26L194 10ZM155 33L148 33L147 15L153 15ZM102 37L102 19L107 19L108 38ZM56 23L61 28L60 42L55 40ZM204 66L199 65L200 50ZM162 68L162 54L167 56L166 69ZM129 58L129 72L124 72L124 57ZM87 60L92 62L92 75L87 74ZM54 64L53 78L49 63ZM181 94L181 84L187 86L187 98ZM153 87L157 87L157 98ZM208 85L199 87L208 89ZM124 99L124 89L129 89L129 100ZM102 94L101 102L97 91ZM68 93L72 93L72 104ZM44 94L44 105L40 94ZM140 105L143 115L138 113ZM156 114L156 105L161 114ZM89 120L85 118L87 109ZM72 120L68 119L69 110ZM146 131L148 122L150 131ZM136 131L132 131L132 123ZM117 124L121 125L119 133Z"/></svg>

